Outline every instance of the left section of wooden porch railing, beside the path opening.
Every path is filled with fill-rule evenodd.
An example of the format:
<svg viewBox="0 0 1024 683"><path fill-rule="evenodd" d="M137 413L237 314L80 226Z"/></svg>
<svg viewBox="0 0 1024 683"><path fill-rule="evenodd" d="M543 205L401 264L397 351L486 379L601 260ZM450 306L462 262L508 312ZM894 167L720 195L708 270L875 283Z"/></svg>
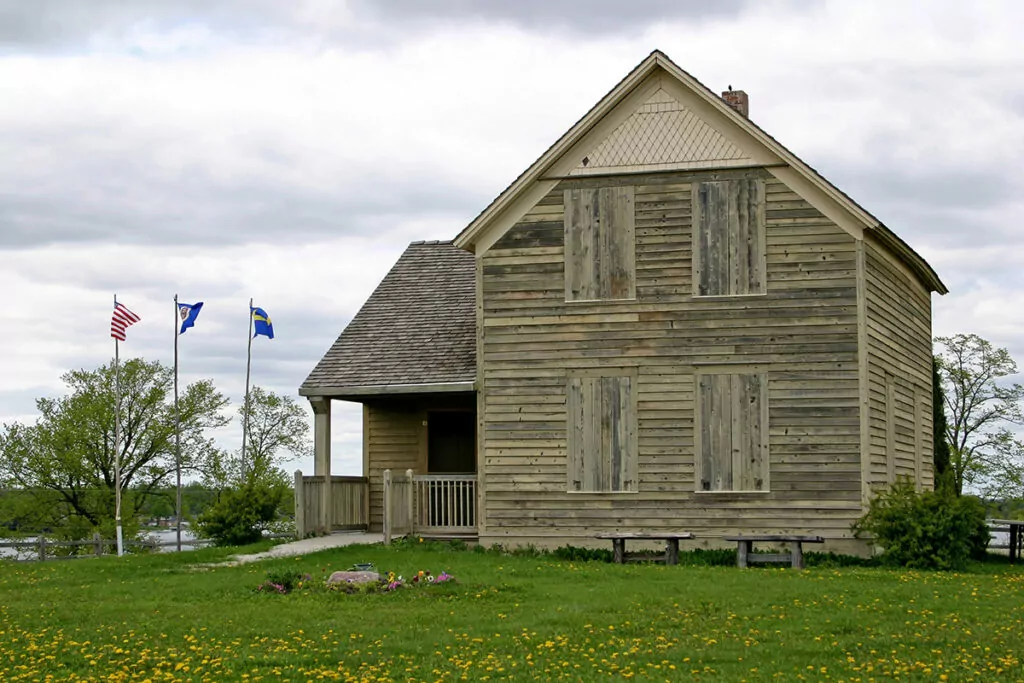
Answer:
<svg viewBox="0 0 1024 683"><path fill-rule="evenodd" d="M295 535L330 533L338 529L366 529L370 525L370 480L367 477L332 476L331 514L324 515L324 476L295 472Z"/></svg>

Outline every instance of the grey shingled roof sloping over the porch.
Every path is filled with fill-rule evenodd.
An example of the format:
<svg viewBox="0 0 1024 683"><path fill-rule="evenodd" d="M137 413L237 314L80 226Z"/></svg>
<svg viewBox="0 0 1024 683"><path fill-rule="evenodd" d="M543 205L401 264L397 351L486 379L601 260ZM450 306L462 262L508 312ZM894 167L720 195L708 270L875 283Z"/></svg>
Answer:
<svg viewBox="0 0 1024 683"><path fill-rule="evenodd" d="M299 388L472 382L476 378L473 254L414 242Z"/></svg>

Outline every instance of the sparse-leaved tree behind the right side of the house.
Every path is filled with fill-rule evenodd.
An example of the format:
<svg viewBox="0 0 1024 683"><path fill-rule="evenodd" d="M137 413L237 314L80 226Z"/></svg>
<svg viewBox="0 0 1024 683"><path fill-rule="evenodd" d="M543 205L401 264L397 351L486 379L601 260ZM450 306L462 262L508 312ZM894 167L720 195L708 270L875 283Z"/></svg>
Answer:
<svg viewBox="0 0 1024 683"><path fill-rule="evenodd" d="M1017 364L978 335L938 337L953 490L992 497L1024 494L1024 444L1012 427L1024 423L1024 386L1008 381Z"/></svg>

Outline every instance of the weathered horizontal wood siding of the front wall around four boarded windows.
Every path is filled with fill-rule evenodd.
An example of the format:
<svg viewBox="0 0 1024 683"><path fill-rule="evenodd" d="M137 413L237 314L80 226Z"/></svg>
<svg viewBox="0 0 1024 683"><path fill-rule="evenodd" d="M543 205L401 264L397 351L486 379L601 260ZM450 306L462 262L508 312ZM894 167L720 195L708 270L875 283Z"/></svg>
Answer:
<svg viewBox="0 0 1024 683"><path fill-rule="evenodd" d="M764 294L695 297L693 187L763 185ZM630 186L636 297L565 301L566 191ZM478 259L484 543L673 527L848 539L860 513L857 249L765 170L561 182ZM748 280L748 282L754 282ZM638 490L568 493L568 378L636 373ZM695 377L767 380L769 489L697 493Z"/></svg>

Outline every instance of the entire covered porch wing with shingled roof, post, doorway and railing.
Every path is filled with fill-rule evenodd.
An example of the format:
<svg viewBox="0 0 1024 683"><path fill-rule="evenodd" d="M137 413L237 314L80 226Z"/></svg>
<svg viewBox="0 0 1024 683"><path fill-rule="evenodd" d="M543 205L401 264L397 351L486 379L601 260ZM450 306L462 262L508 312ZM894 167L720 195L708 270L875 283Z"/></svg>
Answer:
<svg viewBox="0 0 1024 683"><path fill-rule="evenodd" d="M315 414L312 479L321 484L301 486L306 500L317 501L307 530L353 523L380 530L388 496L394 508L388 515L401 532L475 532L475 292L472 253L451 242L411 244L302 383L299 394ZM365 481L361 502L353 498L359 482L332 479L335 401L362 404L361 472L345 472ZM347 462L358 457L336 455ZM386 471L394 477L385 495ZM400 483L407 476L408 484ZM399 514L401 505L408 512Z"/></svg>

